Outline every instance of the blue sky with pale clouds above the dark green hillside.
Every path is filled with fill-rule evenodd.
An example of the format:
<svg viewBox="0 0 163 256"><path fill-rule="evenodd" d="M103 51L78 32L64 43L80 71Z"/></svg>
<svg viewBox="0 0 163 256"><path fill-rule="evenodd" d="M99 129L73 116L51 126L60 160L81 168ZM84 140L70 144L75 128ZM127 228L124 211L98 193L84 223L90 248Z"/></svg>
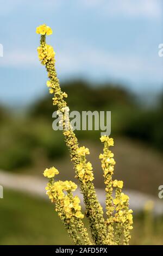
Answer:
<svg viewBox="0 0 163 256"><path fill-rule="evenodd" d="M54 31L47 42L61 81L112 81L139 94L163 90L161 0L1 0L0 17L0 102L24 105L47 92L36 52L42 23Z"/></svg>

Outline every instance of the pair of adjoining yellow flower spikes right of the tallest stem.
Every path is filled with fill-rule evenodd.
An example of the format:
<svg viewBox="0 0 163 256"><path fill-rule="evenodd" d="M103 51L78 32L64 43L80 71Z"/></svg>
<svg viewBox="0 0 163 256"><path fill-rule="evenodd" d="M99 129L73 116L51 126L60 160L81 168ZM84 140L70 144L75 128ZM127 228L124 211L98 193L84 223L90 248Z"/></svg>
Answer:
<svg viewBox="0 0 163 256"><path fill-rule="evenodd" d="M114 154L109 150L109 147L114 146L114 140L108 136L102 136L101 142L104 143L103 154L99 155L102 163L104 183L106 185L106 223L108 225L108 234L106 236L106 244L121 245L122 237L123 244L128 245L130 230L133 228L132 210L129 210L129 197L122 193L123 181L112 180L114 174ZM113 189L115 191L115 198L112 196ZM115 212L115 214L114 214Z"/></svg>

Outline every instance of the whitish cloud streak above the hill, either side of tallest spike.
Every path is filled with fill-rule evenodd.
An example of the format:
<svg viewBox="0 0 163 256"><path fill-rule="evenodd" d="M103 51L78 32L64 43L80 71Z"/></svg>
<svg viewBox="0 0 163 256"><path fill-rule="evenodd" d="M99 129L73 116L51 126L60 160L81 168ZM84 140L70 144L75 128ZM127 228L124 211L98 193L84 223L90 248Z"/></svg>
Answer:
<svg viewBox="0 0 163 256"><path fill-rule="evenodd" d="M81 47L83 48L83 46ZM155 65L151 58L141 56L110 53L108 51L98 50L96 48L84 47L84 51L67 46L68 50L57 51L57 69L61 74L111 74L114 76L123 76L127 74L155 75L161 74L161 65ZM14 50L4 54L0 59L0 66L7 68L32 68L38 66L39 60L36 51Z"/></svg>

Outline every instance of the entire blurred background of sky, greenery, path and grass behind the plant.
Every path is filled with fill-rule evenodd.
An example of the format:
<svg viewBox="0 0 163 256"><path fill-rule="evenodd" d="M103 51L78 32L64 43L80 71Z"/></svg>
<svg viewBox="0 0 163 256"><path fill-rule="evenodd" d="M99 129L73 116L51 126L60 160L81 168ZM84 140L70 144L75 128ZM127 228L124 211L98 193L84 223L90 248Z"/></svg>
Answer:
<svg viewBox="0 0 163 256"><path fill-rule="evenodd" d="M131 244L163 244L162 11L161 0L1 1L1 245L71 243L42 175L55 166L59 179L74 180L62 133L52 130L56 109L37 58L42 23L53 29L47 42L71 111L111 111L114 178L124 181L135 210ZM104 204L100 131L76 134L90 149Z"/></svg>

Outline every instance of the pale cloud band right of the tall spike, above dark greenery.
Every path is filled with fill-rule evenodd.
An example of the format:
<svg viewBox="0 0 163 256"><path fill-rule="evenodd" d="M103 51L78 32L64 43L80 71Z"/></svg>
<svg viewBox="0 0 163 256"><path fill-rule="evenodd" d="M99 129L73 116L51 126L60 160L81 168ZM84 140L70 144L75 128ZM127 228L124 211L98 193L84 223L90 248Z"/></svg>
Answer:
<svg viewBox="0 0 163 256"><path fill-rule="evenodd" d="M93 79L111 78L133 84L137 81L163 81L162 66L157 56L145 58L134 53L118 54L88 47L83 52L77 52L69 47L69 51L57 53L57 70L61 76L84 75Z"/></svg>

